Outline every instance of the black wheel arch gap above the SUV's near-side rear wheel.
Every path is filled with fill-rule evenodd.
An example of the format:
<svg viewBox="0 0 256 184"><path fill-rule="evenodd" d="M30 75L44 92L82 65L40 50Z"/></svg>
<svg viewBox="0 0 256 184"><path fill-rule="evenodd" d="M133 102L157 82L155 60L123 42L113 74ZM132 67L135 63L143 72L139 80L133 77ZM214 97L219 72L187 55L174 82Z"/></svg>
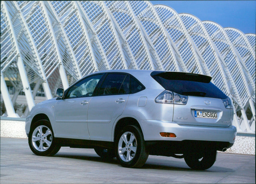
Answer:
<svg viewBox="0 0 256 184"><path fill-rule="evenodd" d="M140 124L135 118L133 118L133 117L123 117L123 118L119 119L118 122L116 123L115 131L114 131L114 141L116 140L116 136L122 130L122 128L124 128L127 125L137 126L140 129L140 131L143 135ZM143 138L144 138L144 136L143 136Z"/></svg>

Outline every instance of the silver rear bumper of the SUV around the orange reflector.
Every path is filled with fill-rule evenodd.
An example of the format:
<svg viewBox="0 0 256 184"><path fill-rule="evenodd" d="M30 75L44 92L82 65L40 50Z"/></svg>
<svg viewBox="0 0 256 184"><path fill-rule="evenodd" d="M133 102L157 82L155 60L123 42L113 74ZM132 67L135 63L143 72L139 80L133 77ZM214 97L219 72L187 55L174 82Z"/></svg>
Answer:
<svg viewBox="0 0 256 184"><path fill-rule="evenodd" d="M228 142L233 145L236 137L236 127L233 125L229 127L180 125L173 121L162 120L140 120L139 123L145 141L198 140ZM161 137L160 132L174 133L176 138Z"/></svg>

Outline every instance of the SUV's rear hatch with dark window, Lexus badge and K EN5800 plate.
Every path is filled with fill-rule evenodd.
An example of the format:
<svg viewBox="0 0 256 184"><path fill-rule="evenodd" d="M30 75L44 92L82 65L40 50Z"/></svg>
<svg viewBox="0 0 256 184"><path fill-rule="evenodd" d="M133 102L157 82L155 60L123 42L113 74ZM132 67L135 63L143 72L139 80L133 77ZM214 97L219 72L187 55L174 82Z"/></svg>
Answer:
<svg viewBox="0 0 256 184"><path fill-rule="evenodd" d="M215 127L228 127L232 124L233 109L230 99L211 82L212 77L159 71L152 72L151 76L167 92L172 92L174 122L180 125ZM187 101L176 103L179 99L187 99Z"/></svg>

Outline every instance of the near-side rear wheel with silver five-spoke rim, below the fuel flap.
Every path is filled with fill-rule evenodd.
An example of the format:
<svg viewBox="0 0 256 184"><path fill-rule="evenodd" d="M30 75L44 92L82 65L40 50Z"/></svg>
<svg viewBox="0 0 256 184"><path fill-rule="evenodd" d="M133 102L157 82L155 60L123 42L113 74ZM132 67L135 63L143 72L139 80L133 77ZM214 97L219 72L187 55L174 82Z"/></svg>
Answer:
<svg viewBox="0 0 256 184"><path fill-rule="evenodd" d="M139 168L148 159L145 141L137 126L129 125L118 134L115 142L116 159L123 167Z"/></svg>

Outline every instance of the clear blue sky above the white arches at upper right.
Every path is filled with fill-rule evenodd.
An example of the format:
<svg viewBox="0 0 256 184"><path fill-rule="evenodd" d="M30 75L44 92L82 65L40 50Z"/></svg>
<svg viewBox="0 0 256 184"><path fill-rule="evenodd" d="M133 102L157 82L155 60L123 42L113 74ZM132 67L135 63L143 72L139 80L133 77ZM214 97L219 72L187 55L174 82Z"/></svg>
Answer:
<svg viewBox="0 0 256 184"><path fill-rule="evenodd" d="M150 1L164 4L177 13L190 13L201 21L211 20L223 28L234 27L246 33L256 33L256 1Z"/></svg>

